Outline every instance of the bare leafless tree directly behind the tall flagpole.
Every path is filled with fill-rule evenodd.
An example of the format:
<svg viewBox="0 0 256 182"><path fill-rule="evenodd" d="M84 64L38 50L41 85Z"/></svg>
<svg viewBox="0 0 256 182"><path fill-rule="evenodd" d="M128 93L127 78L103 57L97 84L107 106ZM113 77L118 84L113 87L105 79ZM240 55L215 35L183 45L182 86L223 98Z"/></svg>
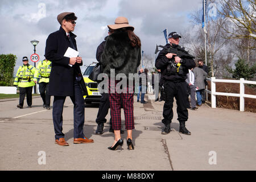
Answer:
<svg viewBox="0 0 256 182"><path fill-rule="evenodd" d="M208 1L208 2L214 2ZM212 17L208 14L207 22L205 22L207 27L207 52L210 60L210 72L212 73L211 76L218 75L221 77L224 71L223 64L229 64L231 62L230 57L226 55L227 45L229 44L229 39L223 39L222 34L224 31L222 30L220 24L225 23L222 17L218 14ZM192 21L194 24L201 24L202 12L201 10L195 11L191 14ZM201 50L204 50L204 30L203 28L197 26L196 34L190 36L189 33L185 33L184 40L188 47L195 53L197 58L203 59ZM186 40L187 39L187 40ZM209 63L209 62L208 62ZM208 64L209 65L209 64Z"/></svg>

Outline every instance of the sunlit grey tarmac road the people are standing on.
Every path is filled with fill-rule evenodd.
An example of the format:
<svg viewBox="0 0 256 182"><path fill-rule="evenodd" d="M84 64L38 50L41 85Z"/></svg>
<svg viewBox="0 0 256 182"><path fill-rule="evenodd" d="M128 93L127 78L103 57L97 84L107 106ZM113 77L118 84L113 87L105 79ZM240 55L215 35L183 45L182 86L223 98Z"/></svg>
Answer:
<svg viewBox="0 0 256 182"><path fill-rule="evenodd" d="M84 131L94 143L73 144L73 104L67 98L63 132L69 146L60 147L54 143L52 109L43 109L40 97L31 109L17 109L18 99L0 100L0 170L256 170L255 113L203 105L189 110L187 136L178 132L174 105L173 131L162 135L164 102L146 98L143 105L134 97L133 151L127 150L126 132L122 151L107 149L114 139L109 114L104 134L95 135L97 104L85 106ZM39 164L44 154L46 164Z"/></svg>

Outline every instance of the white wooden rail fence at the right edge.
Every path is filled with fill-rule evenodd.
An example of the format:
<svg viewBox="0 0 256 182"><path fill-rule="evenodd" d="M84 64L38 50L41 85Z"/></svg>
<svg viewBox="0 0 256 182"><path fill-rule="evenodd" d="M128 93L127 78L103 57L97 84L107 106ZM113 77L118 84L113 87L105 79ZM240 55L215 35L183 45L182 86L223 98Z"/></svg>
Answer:
<svg viewBox="0 0 256 182"><path fill-rule="evenodd" d="M211 94L212 108L216 108L216 96L233 96L240 97L240 111L245 111L245 97L246 98L256 98L254 95L245 94L245 84L254 84L256 85L256 81L247 81L244 78L240 78L240 80L222 80L216 79L215 77L207 78L210 81L211 91L206 90ZM236 83L240 84L240 93L223 93L216 92L216 82L225 82L225 83Z"/></svg>

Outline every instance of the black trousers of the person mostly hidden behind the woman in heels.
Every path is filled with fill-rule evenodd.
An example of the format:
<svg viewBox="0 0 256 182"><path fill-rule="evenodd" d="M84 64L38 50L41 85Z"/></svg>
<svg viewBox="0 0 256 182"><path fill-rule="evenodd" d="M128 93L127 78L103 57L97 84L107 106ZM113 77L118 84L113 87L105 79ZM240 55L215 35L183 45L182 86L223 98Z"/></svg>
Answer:
<svg viewBox="0 0 256 182"><path fill-rule="evenodd" d="M102 93L100 105L98 107L98 114L96 118L96 123L106 123L106 115L109 113L109 94L108 93ZM112 118L110 118L110 125L112 125Z"/></svg>

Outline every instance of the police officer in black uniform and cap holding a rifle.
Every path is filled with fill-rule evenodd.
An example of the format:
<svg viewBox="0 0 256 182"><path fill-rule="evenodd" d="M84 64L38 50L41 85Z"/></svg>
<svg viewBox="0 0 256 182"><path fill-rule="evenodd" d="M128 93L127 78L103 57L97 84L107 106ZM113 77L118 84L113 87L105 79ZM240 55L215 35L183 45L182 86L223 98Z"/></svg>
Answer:
<svg viewBox="0 0 256 182"><path fill-rule="evenodd" d="M177 120L180 123L179 132L187 135L191 133L186 129L185 122L188 120L187 110L187 77L188 69L195 67L195 61L192 55L189 55L184 48L179 46L179 38L176 32L168 35L170 44L166 44L163 50L159 52L156 58L155 67L162 72L164 80L164 92L166 93L166 101L163 107L162 123L164 129L162 134L168 134L171 131L171 122L174 116L172 110L174 97L177 103Z"/></svg>

